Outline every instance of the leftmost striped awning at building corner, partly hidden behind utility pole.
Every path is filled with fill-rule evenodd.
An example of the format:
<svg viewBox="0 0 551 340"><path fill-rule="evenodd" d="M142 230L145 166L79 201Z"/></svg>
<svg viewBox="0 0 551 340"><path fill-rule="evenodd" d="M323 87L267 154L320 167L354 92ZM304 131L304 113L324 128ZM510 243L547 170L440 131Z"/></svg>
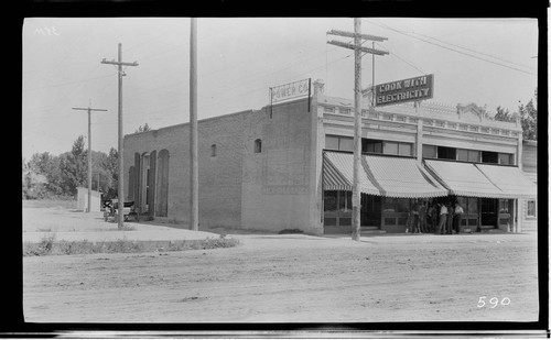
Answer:
<svg viewBox="0 0 551 340"><path fill-rule="evenodd" d="M352 191L354 155L325 152L323 157L323 189ZM380 190L363 169L359 171L359 190L364 194L380 195Z"/></svg>

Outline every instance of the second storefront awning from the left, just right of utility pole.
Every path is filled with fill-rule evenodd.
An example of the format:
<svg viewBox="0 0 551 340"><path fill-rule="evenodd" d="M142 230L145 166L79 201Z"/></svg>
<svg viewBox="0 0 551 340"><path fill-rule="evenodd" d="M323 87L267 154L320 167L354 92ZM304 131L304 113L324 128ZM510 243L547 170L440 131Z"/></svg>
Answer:
<svg viewBox="0 0 551 340"><path fill-rule="evenodd" d="M398 198L447 196L449 191L414 158L364 155L364 169L380 195Z"/></svg>

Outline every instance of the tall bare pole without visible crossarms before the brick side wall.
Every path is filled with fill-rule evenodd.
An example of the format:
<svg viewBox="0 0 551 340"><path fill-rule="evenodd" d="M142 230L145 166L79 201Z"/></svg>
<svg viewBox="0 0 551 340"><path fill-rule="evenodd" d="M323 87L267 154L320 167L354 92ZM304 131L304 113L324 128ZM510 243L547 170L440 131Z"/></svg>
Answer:
<svg viewBox="0 0 551 340"><path fill-rule="evenodd" d="M198 230L197 164L197 19L191 18L190 33L190 229Z"/></svg>

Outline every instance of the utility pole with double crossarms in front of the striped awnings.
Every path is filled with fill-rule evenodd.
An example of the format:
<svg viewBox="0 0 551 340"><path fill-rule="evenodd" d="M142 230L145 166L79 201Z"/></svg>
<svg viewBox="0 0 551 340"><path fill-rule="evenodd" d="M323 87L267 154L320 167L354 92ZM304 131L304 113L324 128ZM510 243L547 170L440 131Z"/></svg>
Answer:
<svg viewBox="0 0 551 340"><path fill-rule="evenodd" d="M352 239L359 241L360 235L360 201L359 164L361 156L361 52L385 55L388 52L361 46L361 40L382 42L386 37L361 34L361 20L354 18L354 33L331 30L327 34L354 37L354 44L329 41L328 44L354 50L354 163L352 189ZM375 84L374 84L375 86Z"/></svg>

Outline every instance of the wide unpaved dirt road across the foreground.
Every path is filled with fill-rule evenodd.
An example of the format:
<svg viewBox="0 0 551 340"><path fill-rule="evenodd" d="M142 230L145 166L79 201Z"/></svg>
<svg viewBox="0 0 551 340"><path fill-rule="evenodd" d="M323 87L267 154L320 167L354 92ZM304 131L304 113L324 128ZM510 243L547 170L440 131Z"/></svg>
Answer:
<svg viewBox="0 0 551 340"><path fill-rule="evenodd" d="M306 235L237 237L241 244L234 249L24 257L25 320L538 318L533 234L381 235L361 242ZM486 297L482 308L477 307L480 297ZM491 297L499 301L495 308L490 308Z"/></svg>

